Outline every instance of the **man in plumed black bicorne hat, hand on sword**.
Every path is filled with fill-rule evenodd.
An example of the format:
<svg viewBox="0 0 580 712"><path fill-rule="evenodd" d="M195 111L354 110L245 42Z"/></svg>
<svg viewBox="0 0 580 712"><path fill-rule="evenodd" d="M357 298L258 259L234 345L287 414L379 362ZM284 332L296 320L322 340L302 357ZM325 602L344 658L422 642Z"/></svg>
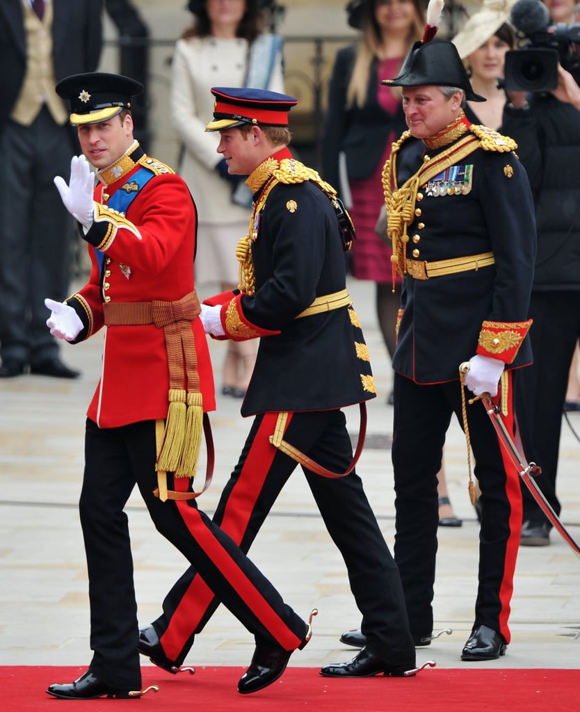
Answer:
<svg viewBox="0 0 580 712"><path fill-rule="evenodd" d="M532 360L534 208L514 141L465 117L465 100L483 99L455 46L430 41L435 10L431 3L425 38L413 45L400 75L385 80L402 88L408 125L383 171L393 270L404 277L393 357L394 551L411 632L430 644L437 471L455 414L482 492L475 621L461 654L480 661L499 658L509 643L522 496L519 473L484 407L466 401L490 393L514 433L514 380ZM469 364L469 392L462 363Z"/></svg>

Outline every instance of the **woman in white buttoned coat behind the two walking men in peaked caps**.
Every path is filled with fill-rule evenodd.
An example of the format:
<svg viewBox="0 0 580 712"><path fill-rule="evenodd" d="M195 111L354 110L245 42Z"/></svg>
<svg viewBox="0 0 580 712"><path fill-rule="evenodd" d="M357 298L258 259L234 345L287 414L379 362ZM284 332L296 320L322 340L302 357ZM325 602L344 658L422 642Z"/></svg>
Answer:
<svg viewBox="0 0 580 712"><path fill-rule="evenodd" d="M219 135L206 133L214 86L251 86L284 92L282 40L264 33L270 0L190 0L195 15L175 45L171 112L182 142L180 174L198 211L197 285L236 288L236 247L247 234L251 197L244 179L229 176L217 153ZM250 201L250 202L249 202ZM222 394L243 397L255 360L253 341L227 342Z"/></svg>

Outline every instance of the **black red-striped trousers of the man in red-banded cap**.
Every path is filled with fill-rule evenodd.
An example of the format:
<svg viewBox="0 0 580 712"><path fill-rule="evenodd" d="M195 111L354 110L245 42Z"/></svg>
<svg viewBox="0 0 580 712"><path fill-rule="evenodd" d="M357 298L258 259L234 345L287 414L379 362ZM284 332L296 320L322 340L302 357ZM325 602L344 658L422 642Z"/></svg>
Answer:
<svg viewBox="0 0 580 712"><path fill-rule="evenodd" d="M219 501L214 522L247 551L296 462L269 443L277 413L254 419L252 429ZM284 439L314 461L336 472L352 459L351 439L340 410L291 414ZM351 473L325 478L304 469L328 533L343 555L356 604L363 614L368 646L387 661L415 664L403 589L397 567L363 491ZM154 627L165 654L181 664L196 633L217 607L212 592L190 567L163 602Z"/></svg>

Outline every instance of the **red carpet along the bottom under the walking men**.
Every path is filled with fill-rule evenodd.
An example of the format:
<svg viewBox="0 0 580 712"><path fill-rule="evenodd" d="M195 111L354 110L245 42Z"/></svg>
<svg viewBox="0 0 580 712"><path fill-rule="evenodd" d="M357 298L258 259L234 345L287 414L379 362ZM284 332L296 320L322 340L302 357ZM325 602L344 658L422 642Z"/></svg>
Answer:
<svg viewBox="0 0 580 712"><path fill-rule="evenodd" d="M8 712L578 712L580 670L427 669L410 679L336 680L317 668L288 668L273 685L252 695L236 691L244 668L198 667L195 675L171 676L143 668L143 686L157 684L137 700L58 700L46 694L53 682L71 682L84 668L2 667L0 704Z"/></svg>

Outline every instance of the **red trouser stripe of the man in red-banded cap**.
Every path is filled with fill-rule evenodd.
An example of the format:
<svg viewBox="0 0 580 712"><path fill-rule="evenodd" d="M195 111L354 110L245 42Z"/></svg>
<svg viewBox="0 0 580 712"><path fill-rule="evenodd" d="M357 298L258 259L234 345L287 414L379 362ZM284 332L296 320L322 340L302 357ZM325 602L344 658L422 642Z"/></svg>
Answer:
<svg viewBox="0 0 580 712"><path fill-rule="evenodd" d="M286 422L286 428L292 414ZM269 436L274 434L278 413L266 413L242 466L238 481L229 494L224 508L220 529L239 545L246 533L257 497L264 486L277 449L270 444ZM214 594L200 575L196 575L179 606L172 613L169 626L162 634L161 645L170 660L180 656L187 640L197 629L212 602Z"/></svg>

